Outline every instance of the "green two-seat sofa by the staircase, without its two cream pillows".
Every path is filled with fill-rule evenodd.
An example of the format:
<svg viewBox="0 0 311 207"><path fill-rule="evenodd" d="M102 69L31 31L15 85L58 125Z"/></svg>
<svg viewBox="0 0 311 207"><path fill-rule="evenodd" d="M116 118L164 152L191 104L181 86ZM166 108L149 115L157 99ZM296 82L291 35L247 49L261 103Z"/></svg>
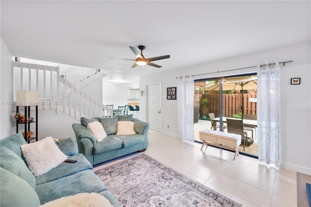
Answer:
<svg viewBox="0 0 311 207"><path fill-rule="evenodd" d="M87 130L87 124L94 121L100 122L107 134L107 137L101 142L97 142L94 135ZM136 134L116 135L118 121L133 121ZM72 128L76 135L79 153L84 154L92 165L133 152L145 151L148 146L149 123L133 118L132 114L104 118L81 118L81 124L73 124Z"/></svg>

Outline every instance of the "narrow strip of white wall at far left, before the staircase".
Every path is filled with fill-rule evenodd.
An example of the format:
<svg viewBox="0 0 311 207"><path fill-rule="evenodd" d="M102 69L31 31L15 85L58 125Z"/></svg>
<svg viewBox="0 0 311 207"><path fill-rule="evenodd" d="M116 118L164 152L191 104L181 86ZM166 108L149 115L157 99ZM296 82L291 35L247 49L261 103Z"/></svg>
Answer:
<svg viewBox="0 0 311 207"><path fill-rule="evenodd" d="M11 89L11 80L12 80L12 70L11 70L11 61L12 54L9 49L6 47L5 43L1 38L0 42L0 98L1 102L13 101L12 100L12 89ZM0 105L0 139L3 139L11 135L11 120L12 116L12 105Z"/></svg>

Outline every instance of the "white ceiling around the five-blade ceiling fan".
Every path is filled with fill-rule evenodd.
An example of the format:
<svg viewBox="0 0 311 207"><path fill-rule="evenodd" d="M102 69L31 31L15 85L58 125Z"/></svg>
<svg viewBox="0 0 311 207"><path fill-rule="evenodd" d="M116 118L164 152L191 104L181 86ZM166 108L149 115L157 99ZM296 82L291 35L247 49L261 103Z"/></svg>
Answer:
<svg viewBox="0 0 311 207"><path fill-rule="evenodd" d="M0 1L14 56L147 75L311 39L305 1ZM138 66L129 46L146 46ZM123 76L124 78L124 76Z"/></svg>

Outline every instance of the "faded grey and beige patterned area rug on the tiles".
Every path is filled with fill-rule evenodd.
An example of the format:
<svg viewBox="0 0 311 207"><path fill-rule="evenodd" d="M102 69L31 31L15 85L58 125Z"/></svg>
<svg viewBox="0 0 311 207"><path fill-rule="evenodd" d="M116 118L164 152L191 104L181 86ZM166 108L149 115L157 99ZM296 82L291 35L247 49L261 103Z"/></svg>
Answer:
<svg viewBox="0 0 311 207"><path fill-rule="evenodd" d="M122 207L242 207L145 154L95 173Z"/></svg>

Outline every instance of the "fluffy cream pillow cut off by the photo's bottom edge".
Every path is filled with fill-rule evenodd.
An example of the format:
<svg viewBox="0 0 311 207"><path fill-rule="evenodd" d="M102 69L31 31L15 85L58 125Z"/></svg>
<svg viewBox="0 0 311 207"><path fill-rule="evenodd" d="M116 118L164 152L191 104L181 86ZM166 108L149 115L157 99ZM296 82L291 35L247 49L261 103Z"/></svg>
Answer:
<svg viewBox="0 0 311 207"><path fill-rule="evenodd" d="M41 207L114 207L108 199L96 193L78 193L41 205Z"/></svg>

